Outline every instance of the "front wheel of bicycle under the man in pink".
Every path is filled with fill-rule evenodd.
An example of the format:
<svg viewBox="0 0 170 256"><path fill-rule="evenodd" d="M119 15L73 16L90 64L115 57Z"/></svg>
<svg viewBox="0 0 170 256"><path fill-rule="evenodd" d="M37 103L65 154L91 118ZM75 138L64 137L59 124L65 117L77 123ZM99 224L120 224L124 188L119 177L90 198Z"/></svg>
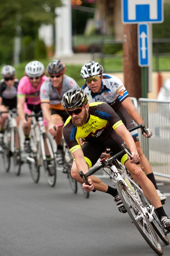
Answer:
<svg viewBox="0 0 170 256"><path fill-rule="evenodd" d="M50 137L46 133L43 134L43 143L42 144L45 146L41 145L41 150L43 147L44 153L46 150L50 154L49 159L43 159L46 180L51 187L54 187L56 184L56 179L57 179L56 162L55 162L54 151L53 151L53 146L52 146Z"/></svg>

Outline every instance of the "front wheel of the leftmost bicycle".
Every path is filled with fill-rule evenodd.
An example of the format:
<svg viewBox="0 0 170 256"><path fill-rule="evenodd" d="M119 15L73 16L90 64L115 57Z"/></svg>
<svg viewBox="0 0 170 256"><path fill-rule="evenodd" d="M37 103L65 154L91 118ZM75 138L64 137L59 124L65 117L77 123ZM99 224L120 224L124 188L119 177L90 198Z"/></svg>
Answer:
<svg viewBox="0 0 170 256"><path fill-rule="evenodd" d="M18 148L15 147L15 140L18 140ZM21 173L21 148L20 148L20 136L17 127L14 128L14 152L12 153L13 156L13 167L16 176L20 176Z"/></svg>

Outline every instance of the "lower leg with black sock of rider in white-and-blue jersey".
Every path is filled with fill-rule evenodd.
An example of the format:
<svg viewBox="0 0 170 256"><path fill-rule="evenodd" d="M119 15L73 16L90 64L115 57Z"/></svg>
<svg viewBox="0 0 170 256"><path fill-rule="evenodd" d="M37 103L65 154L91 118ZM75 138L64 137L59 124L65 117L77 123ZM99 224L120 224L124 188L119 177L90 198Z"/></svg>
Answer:
<svg viewBox="0 0 170 256"><path fill-rule="evenodd" d="M136 148L137 148L137 151L138 151L138 154L139 154L139 157L140 157L140 164L144 168L144 172L147 175L148 179L150 179L152 181L153 185L155 186L156 191L157 191L157 193L159 195L159 198L161 200L161 203L163 204L166 201L167 197L162 192L160 192L159 189L158 189L158 186L157 186L156 180L155 180L155 176L153 175L152 167L151 167L149 161L147 160L147 158L145 157L145 155L142 151L140 142L136 141L135 144L136 144Z"/></svg>

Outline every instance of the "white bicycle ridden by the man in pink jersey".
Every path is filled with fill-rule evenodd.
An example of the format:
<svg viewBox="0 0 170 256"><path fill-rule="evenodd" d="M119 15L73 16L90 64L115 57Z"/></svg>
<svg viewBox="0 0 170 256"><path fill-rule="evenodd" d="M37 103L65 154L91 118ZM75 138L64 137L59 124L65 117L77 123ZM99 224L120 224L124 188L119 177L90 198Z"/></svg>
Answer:
<svg viewBox="0 0 170 256"><path fill-rule="evenodd" d="M40 167L43 165L45 177L51 187L55 186L57 179L56 162L51 139L45 132L42 113L26 114L26 120L33 117L30 131L31 153L26 157L29 164L30 174L35 183L40 180ZM35 119L37 117L37 121ZM48 158L45 150L48 151Z"/></svg>

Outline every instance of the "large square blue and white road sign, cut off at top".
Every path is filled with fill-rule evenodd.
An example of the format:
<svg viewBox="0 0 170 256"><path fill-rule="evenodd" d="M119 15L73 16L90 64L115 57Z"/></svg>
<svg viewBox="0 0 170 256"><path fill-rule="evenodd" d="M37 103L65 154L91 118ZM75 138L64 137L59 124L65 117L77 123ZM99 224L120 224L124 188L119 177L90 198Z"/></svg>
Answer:
<svg viewBox="0 0 170 256"><path fill-rule="evenodd" d="M123 23L162 23L163 0L122 0Z"/></svg>

